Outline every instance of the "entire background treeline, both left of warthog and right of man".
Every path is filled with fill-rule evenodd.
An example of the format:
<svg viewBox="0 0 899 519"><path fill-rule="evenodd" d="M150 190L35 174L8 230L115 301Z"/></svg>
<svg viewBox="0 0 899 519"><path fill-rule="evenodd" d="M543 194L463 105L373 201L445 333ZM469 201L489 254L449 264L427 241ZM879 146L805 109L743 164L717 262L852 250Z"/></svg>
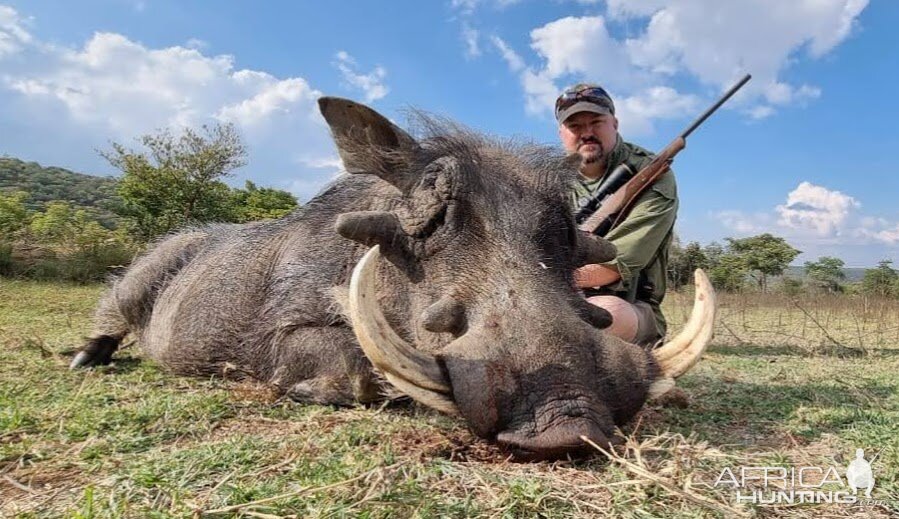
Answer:
<svg viewBox="0 0 899 519"><path fill-rule="evenodd" d="M120 172L100 178L36 163L0 158L0 275L96 281L128 265L154 239L188 225L278 218L297 207L290 193L228 186L223 179L246 164L232 125L168 131L139 139L135 151L112 143L101 155ZM783 238L761 234L724 244L669 251L669 277L678 288L704 269L719 291L772 289L864 293L899 298L899 273L888 260L846 280L843 261L806 262L802 278L785 276L801 251ZM776 282L772 284L772 280Z"/></svg>

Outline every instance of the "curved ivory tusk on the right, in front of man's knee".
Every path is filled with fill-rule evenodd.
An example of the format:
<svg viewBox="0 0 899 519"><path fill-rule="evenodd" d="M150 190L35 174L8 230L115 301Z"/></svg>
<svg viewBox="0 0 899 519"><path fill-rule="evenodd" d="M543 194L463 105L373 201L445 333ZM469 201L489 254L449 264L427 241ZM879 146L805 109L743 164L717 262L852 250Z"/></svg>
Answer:
<svg viewBox="0 0 899 519"><path fill-rule="evenodd" d="M694 273L696 296L690 319L670 342L653 350L662 378L677 378L693 367L712 339L715 325L715 289L702 269Z"/></svg>

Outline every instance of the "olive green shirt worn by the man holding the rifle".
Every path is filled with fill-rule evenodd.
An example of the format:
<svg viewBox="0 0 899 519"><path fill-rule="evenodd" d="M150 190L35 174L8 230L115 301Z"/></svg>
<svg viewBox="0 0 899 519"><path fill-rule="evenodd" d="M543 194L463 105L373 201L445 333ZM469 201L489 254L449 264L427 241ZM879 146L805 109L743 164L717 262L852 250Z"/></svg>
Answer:
<svg viewBox="0 0 899 519"><path fill-rule="evenodd" d="M572 190L572 205L578 207L579 201L590 197L605 175L619 164L626 163L633 171L640 171L653 156L649 151L625 142L619 135L617 144L606 158L606 171L602 177L591 180L578 175ZM625 219L605 236L618 248L618 256L606 265L617 268L621 279L603 287L600 292L627 299L628 292L637 283L636 297L652 306L659 334L663 337L667 323L660 307L667 289L668 246L674 234L677 205L677 184L674 172L669 170L640 194Z"/></svg>

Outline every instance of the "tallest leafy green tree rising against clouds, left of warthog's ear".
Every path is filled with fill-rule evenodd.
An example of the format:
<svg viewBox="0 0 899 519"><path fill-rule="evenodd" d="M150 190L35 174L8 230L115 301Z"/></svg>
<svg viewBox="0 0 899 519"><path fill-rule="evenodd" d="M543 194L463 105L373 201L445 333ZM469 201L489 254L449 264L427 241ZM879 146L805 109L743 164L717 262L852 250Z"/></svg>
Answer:
<svg viewBox="0 0 899 519"><path fill-rule="evenodd" d="M101 155L124 175L120 214L150 240L192 222L230 221L231 189L221 181L246 164L246 148L232 124L144 135L148 153L112 143Z"/></svg>

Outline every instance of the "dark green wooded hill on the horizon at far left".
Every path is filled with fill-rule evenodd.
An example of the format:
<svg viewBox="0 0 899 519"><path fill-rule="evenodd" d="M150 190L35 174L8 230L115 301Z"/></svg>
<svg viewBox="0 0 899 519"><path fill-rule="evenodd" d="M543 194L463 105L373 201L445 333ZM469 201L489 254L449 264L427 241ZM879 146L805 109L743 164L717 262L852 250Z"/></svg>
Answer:
<svg viewBox="0 0 899 519"><path fill-rule="evenodd" d="M37 162L25 162L0 157L0 191L28 193L25 205L34 211L47 202L63 200L74 206L89 208L106 226L114 226L116 217L112 207L118 203L117 180L76 173L63 168L43 167Z"/></svg>

